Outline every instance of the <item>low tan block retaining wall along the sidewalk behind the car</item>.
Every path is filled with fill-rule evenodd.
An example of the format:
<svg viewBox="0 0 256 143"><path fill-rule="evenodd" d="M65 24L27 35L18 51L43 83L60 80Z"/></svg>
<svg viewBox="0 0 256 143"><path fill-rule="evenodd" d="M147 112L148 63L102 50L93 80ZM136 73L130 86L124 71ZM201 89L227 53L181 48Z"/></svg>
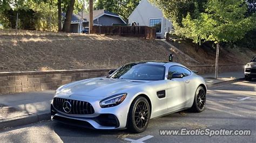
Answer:
<svg viewBox="0 0 256 143"><path fill-rule="evenodd" d="M187 66L199 74L214 73L214 65ZM107 76L110 69L21 71L0 73L0 94L57 89L60 85L86 78ZM243 71L244 65L220 65L219 72Z"/></svg>

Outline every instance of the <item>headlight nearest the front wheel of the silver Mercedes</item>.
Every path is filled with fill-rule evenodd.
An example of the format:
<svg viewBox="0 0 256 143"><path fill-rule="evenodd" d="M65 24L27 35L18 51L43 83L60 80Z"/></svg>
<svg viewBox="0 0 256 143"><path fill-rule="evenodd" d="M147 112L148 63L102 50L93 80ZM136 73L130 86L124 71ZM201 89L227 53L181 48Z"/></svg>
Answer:
<svg viewBox="0 0 256 143"><path fill-rule="evenodd" d="M103 99L99 102L100 107L109 108L121 104L126 98L127 94L117 94Z"/></svg>

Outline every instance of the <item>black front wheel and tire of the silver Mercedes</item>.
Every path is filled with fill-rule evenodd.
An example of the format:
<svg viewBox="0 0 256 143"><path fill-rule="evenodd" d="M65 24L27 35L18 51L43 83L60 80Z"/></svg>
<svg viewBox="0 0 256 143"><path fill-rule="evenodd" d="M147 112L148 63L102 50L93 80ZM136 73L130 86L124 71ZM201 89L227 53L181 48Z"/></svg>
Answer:
<svg viewBox="0 0 256 143"><path fill-rule="evenodd" d="M127 129L133 133L146 130L150 120L150 105L145 97L138 96L132 102L127 118Z"/></svg>

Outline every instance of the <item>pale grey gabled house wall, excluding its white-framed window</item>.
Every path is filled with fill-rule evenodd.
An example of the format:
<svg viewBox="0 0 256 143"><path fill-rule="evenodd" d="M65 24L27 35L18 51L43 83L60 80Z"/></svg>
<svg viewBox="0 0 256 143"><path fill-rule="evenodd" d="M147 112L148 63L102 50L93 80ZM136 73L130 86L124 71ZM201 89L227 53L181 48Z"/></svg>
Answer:
<svg viewBox="0 0 256 143"><path fill-rule="evenodd" d="M129 16L129 24L133 22L139 23L138 26L149 26L151 18L162 18L161 22L161 33L157 34L157 38L164 38L165 32L169 33L172 29L172 23L165 19L163 12L158 9L156 6L153 6L151 3L146 0L142 0L137 8Z"/></svg>

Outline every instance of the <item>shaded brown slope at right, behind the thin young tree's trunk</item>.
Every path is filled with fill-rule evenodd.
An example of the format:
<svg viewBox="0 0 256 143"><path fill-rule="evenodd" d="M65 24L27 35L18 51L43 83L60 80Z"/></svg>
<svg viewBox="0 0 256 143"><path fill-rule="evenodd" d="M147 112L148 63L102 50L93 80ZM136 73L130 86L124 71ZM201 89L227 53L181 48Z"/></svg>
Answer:
<svg viewBox="0 0 256 143"><path fill-rule="evenodd" d="M176 39L175 41L170 43L178 47L184 53L190 55L193 59L199 61L201 65L215 64L215 49L211 47L198 48L195 44L191 44L191 41L187 41L184 39ZM251 49L248 48L221 47L219 53L219 63L244 64L250 61L254 55L256 55L256 51L251 51Z"/></svg>

